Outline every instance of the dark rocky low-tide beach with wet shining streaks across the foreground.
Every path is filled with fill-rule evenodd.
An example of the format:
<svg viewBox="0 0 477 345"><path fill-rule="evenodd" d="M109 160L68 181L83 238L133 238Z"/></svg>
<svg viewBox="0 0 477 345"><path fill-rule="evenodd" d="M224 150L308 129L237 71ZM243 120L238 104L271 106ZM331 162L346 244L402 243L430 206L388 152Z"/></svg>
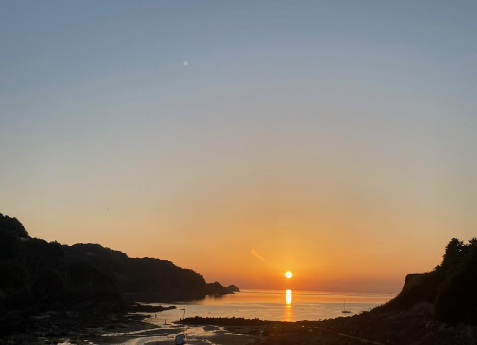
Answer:
<svg viewBox="0 0 477 345"><path fill-rule="evenodd" d="M29 318L28 332L0 339L8 345L162 345L187 334L188 344L322 345L473 344L477 327L435 321L431 303L406 311L364 312L323 321L272 321L190 317L184 324L157 325L151 316L47 313ZM389 327L389 325L393 325Z"/></svg>

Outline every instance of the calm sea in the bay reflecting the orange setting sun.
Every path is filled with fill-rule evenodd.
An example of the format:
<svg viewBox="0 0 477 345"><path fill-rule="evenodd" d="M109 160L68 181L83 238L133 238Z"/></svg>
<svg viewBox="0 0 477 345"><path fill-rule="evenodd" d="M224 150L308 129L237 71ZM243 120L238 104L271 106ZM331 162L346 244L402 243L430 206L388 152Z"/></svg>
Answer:
<svg viewBox="0 0 477 345"><path fill-rule="evenodd" d="M387 302L394 294L377 293L342 293L319 291L285 290L251 290L220 297L207 296L205 299L176 303L151 303L152 305L176 305L177 309L164 310L160 313L142 313L154 318L148 322L162 325L182 318L186 308L186 317L241 317L259 318L262 320L299 321L336 318L338 316L353 316L362 310ZM341 312L343 301L352 314ZM157 318L155 316L157 315Z"/></svg>

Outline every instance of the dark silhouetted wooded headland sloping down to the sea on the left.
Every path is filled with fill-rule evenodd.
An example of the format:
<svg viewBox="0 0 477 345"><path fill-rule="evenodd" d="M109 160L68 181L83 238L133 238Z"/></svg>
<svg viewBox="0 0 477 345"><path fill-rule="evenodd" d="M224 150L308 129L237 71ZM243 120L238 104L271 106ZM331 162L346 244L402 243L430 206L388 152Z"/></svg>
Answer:
<svg viewBox="0 0 477 345"><path fill-rule="evenodd" d="M46 310L117 313L132 301L229 293L219 283L212 286L171 261L129 258L97 244L66 246L32 238L16 218L0 214L0 333L24 326L20 315Z"/></svg>

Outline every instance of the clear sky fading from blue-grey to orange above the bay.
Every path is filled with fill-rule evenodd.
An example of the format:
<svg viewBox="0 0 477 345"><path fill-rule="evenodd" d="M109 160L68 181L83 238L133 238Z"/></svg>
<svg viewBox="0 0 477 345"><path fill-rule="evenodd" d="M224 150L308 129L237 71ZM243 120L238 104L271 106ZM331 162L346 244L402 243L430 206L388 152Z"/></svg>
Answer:
<svg viewBox="0 0 477 345"><path fill-rule="evenodd" d="M3 1L0 212L208 282L398 292L477 235L476 15Z"/></svg>

